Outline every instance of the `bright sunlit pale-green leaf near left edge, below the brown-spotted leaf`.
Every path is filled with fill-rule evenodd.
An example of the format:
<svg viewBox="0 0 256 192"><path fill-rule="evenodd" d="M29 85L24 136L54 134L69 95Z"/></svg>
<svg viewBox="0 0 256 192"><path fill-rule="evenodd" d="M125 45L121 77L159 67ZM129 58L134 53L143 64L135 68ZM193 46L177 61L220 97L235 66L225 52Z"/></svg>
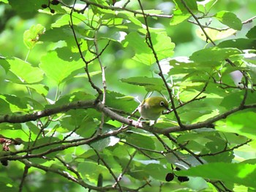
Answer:
<svg viewBox="0 0 256 192"><path fill-rule="evenodd" d="M14 82L34 83L40 82L43 79L43 72L38 67L31 66L26 61L19 58L7 58L10 64L10 72L15 74L18 79L12 79Z"/></svg>

